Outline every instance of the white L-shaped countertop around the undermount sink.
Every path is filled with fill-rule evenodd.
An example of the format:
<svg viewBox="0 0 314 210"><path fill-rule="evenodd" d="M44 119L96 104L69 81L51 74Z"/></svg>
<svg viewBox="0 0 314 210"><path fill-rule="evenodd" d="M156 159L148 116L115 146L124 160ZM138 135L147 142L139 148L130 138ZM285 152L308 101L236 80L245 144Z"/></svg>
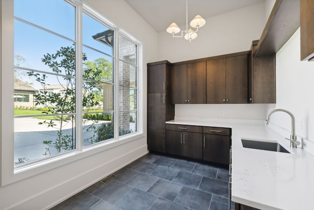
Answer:
<svg viewBox="0 0 314 210"><path fill-rule="evenodd" d="M234 202L261 210L314 209L314 155L302 148L291 149L290 142L268 126L235 121L166 123L232 128ZM243 148L241 138L277 141L291 153Z"/></svg>

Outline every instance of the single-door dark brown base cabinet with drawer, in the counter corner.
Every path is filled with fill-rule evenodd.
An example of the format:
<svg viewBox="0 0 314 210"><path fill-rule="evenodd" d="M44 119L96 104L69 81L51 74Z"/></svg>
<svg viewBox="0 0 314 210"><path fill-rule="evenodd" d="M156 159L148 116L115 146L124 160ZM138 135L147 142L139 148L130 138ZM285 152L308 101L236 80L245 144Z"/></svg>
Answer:
<svg viewBox="0 0 314 210"><path fill-rule="evenodd" d="M203 159L229 165L230 128L204 127L203 133Z"/></svg>

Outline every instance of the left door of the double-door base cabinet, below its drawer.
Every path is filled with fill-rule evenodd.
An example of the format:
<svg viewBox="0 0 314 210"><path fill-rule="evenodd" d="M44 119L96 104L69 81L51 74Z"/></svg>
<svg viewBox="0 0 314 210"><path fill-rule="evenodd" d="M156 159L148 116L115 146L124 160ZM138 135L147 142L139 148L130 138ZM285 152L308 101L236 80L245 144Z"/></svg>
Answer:
<svg viewBox="0 0 314 210"><path fill-rule="evenodd" d="M166 130L166 152L182 156L183 133L180 131Z"/></svg>

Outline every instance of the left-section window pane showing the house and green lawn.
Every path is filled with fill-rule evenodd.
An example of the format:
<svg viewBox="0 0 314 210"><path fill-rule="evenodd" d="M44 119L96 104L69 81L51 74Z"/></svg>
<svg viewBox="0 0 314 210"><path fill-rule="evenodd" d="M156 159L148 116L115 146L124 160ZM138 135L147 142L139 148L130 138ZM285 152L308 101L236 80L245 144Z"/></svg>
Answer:
<svg viewBox="0 0 314 210"><path fill-rule="evenodd" d="M75 79L17 70L20 78L14 78L14 115L46 115L75 113ZM40 82L39 82L40 81ZM20 102L22 97L29 101Z"/></svg>

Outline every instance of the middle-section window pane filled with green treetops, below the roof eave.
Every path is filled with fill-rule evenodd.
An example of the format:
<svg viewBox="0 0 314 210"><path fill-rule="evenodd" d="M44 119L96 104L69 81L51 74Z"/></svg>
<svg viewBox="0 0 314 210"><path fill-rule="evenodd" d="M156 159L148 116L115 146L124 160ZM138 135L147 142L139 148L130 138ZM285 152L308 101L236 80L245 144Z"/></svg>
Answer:
<svg viewBox="0 0 314 210"><path fill-rule="evenodd" d="M113 58L83 47L83 78L100 82L112 82Z"/></svg>

